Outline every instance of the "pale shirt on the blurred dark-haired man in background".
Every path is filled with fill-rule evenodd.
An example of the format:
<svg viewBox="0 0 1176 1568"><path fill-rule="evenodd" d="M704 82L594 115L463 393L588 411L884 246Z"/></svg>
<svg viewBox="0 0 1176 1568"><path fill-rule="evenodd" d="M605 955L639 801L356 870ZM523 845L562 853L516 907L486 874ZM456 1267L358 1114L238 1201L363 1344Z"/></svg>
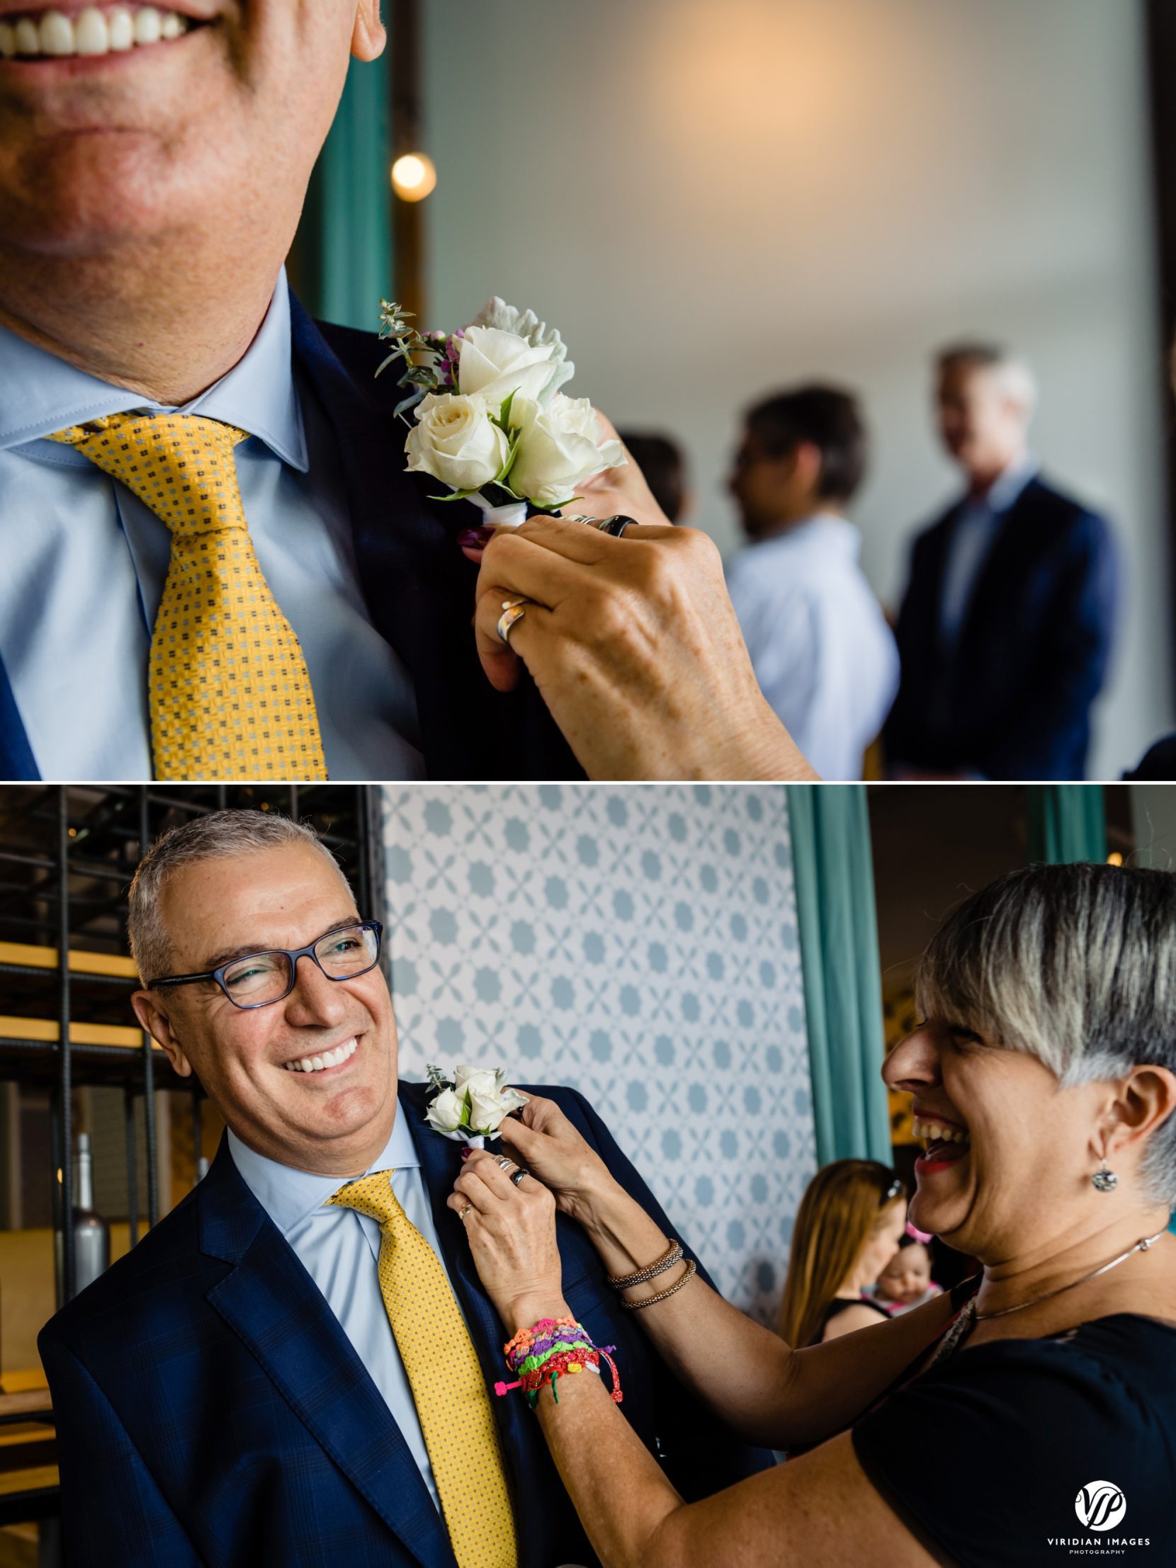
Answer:
<svg viewBox="0 0 1176 1568"><path fill-rule="evenodd" d="M859 549L851 522L820 513L728 563L759 688L825 779L861 778L898 690L898 649Z"/></svg>

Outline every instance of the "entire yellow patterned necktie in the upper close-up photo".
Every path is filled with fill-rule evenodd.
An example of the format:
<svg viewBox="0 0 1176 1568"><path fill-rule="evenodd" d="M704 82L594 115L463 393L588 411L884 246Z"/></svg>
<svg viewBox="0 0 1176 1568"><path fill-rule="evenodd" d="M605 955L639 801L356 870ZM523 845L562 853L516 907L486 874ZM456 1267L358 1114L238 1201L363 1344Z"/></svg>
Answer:
<svg viewBox="0 0 1176 1568"><path fill-rule="evenodd" d="M237 486L246 431L199 414L61 430L171 532L147 695L157 779L325 779L303 649L262 575Z"/></svg>

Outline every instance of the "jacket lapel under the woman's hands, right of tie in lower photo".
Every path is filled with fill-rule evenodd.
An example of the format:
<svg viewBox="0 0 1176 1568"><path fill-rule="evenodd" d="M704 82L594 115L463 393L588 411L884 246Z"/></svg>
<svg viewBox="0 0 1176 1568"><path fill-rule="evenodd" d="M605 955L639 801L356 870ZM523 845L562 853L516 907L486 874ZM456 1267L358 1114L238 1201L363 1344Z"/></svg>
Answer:
<svg viewBox="0 0 1176 1568"><path fill-rule="evenodd" d="M453 1192L453 1182L461 1171L461 1145L453 1143L450 1138L442 1138L439 1132L434 1132L426 1124L426 1083L401 1082L400 1085L400 1104L411 1118L412 1143L420 1157L420 1174L433 1209L433 1225L441 1242L445 1267L461 1309L466 1314L466 1323L469 1325L474 1347L478 1352L483 1377L492 1391L494 1383L506 1375L502 1358L502 1345L506 1334L499 1322L499 1314L491 1306L489 1297L478 1279L478 1270L474 1265L461 1220L445 1201ZM491 1392L491 1405L499 1425L511 1493L516 1499L514 1518L519 1563L527 1565L538 1560L533 1544L536 1521L532 1510L521 1507L521 1502L528 1490L532 1490L528 1488L528 1479L533 1486L533 1479L546 1474L546 1468L550 1465L547 1446L543 1441L538 1421L535 1421L527 1408L527 1402L517 1392L503 1397Z"/></svg>

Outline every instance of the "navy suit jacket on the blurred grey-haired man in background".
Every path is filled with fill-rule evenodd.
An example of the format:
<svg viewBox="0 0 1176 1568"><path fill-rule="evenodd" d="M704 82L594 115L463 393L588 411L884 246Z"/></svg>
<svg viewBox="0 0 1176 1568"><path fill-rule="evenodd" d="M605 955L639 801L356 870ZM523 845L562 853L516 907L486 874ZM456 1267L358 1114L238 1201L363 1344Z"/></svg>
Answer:
<svg viewBox="0 0 1176 1568"><path fill-rule="evenodd" d="M1098 513L1030 480L1005 513L953 649L939 640L953 506L919 535L898 612L902 682L886 754L930 771L1080 779L1118 569Z"/></svg>

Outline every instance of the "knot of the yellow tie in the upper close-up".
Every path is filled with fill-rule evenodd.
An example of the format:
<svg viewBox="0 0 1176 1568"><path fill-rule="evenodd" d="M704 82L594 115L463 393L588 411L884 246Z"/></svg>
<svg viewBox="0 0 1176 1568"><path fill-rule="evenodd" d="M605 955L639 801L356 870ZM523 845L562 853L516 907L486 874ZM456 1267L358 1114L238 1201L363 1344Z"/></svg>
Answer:
<svg viewBox="0 0 1176 1568"><path fill-rule="evenodd" d="M234 461L246 434L201 414L105 414L50 441L132 489L172 533L209 533L246 527Z"/></svg>

